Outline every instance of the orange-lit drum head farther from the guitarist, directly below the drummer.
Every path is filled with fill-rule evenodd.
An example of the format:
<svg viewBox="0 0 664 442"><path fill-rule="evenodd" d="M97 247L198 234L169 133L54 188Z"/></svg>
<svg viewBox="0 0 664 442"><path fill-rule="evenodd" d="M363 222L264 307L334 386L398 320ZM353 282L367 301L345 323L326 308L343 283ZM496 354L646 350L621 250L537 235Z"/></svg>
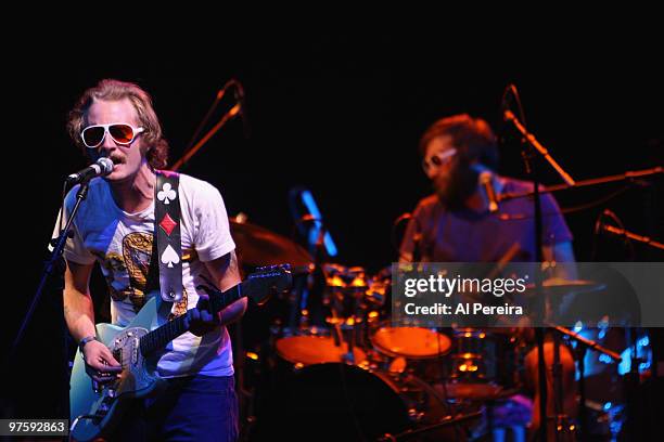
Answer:
<svg viewBox="0 0 664 442"><path fill-rule="evenodd" d="M436 358L451 347L446 335L422 327L381 327L371 342L382 353L409 359Z"/></svg>

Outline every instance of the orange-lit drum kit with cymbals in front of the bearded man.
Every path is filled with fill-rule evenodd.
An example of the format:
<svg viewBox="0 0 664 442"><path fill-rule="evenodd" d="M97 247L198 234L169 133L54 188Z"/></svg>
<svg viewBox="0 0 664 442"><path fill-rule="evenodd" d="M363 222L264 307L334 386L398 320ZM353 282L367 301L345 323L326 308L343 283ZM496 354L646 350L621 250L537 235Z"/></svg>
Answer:
<svg viewBox="0 0 664 442"><path fill-rule="evenodd" d="M518 329L396 327L390 269L370 275L315 263L293 240L244 220L232 219L231 232L243 266L291 262L304 281L301 292L242 324L243 336L259 336L239 347L253 361L255 373L241 375L241 405L251 402L245 421L255 424L248 431L257 439L310 440L324 431L344 440L473 440L498 428L523 434L533 405L522 394L532 347ZM551 281L545 289L559 296L598 286ZM268 333L255 333L266 324Z"/></svg>

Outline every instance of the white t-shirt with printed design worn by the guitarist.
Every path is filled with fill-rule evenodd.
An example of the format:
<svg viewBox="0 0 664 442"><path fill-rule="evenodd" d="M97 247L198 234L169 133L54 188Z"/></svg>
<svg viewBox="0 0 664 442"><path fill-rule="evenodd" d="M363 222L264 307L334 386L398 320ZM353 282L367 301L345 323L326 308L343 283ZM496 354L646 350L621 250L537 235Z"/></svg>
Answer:
<svg viewBox="0 0 664 442"><path fill-rule="evenodd" d="M66 213L74 208L77 191L78 186L67 194ZM201 275L212 281L204 262L235 248L224 199L217 188L180 174L178 199L183 296L173 307L175 315L196 306L195 287L205 284ZM54 236L59 225L55 224ZM88 197L76 214L73 230L74 237L67 239L65 246L65 259L79 264L100 263L112 299L112 322L126 326L146 301L144 290L154 235L154 203L140 212L128 213L115 204L108 183L95 178L90 182ZM159 359L157 368L162 377L232 375L233 356L226 327L203 337L188 332L176 338Z"/></svg>

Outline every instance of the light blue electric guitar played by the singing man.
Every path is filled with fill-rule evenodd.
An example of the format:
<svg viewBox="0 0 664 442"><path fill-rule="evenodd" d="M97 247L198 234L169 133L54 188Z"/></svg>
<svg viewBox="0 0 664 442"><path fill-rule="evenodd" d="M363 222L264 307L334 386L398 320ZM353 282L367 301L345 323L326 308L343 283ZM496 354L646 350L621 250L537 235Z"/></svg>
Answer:
<svg viewBox="0 0 664 442"><path fill-rule="evenodd" d="M216 315L244 296L260 306L272 294L289 289L291 284L288 265L261 268L241 284L224 292L210 294L206 310ZM123 365L117 380L94 389L86 373L86 363L80 352L76 352L69 390L73 419L69 437L73 440L92 441L107 437L132 400L154 395L166 386L156 373L156 356L168 342L189 329L191 311L158 325L157 308L153 296L126 327L97 325L97 338Z"/></svg>

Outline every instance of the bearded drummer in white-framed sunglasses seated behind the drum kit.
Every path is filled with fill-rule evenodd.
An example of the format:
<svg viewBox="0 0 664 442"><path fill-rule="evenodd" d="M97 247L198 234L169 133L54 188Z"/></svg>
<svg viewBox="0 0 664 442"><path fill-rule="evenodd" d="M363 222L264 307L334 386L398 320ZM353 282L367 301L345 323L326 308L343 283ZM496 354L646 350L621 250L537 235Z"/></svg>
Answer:
<svg viewBox="0 0 664 442"><path fill-rule="evenodd" d="M502 177L498 167L497 139L489 125L467 114L435 121L422 135L422 168L434 193L417 205L399 249L401 262L532 262L537 258L533 203L513 198L497 205L500 195L526 193L532 183ZM494 195L490 195L490 193ZM574 262L572 234L551 194L541 195L542 256L545 261ZM556 274L576 277L574 265L558 265ZM532 329L523 335L532 339ZM554 414L551 365L552 342L545 343L548 368L547 415ZM525 359L524 384L537 392L537 349ZM563 412L574 417L574 360L561 346ZM532 428L539 427L538 408L532 413Z"/></svg>

